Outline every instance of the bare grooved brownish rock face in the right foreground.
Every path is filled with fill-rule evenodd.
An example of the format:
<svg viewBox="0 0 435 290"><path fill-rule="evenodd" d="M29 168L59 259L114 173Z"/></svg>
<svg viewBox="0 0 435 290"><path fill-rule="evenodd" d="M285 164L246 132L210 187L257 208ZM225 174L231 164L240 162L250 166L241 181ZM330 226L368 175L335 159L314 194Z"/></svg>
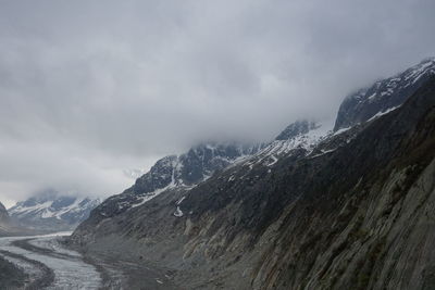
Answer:
<svg viewBox="0 0 435 290"><path fill-rule="evenodd" d="M275 223L256 287L434 287L434 105L432 80L323 160L315 187ZM331 179L322 186L323 178Z"/></svg>

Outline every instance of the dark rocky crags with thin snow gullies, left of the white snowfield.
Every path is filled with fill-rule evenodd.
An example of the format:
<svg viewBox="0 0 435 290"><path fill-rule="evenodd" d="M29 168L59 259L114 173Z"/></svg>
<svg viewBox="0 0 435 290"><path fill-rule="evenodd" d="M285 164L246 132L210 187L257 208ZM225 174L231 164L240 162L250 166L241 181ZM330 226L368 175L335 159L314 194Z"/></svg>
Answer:
<svg viewBox="0 0 435 290"><path fill-rule="evenodd" d="M207 180L214 172L258 152L261 147L262 144L209 142L194 147L181 155L165 156L130 188L109 198L98 209L102 215L110 217L140 206L165 190L190 188Z"/></svg>

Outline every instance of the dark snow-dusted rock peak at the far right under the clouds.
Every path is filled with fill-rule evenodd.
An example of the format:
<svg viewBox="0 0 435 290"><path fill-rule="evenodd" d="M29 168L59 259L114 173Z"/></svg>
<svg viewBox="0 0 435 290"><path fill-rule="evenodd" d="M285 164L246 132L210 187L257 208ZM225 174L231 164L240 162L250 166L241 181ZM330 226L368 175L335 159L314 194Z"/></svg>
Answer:
<svg viewBox="0 0 435 290"><path fill-rule="evenodd" d="M360 89L341 103L334 130L352 127L403 103L435 75L435 58L426 59L394 77Z"/></svg>

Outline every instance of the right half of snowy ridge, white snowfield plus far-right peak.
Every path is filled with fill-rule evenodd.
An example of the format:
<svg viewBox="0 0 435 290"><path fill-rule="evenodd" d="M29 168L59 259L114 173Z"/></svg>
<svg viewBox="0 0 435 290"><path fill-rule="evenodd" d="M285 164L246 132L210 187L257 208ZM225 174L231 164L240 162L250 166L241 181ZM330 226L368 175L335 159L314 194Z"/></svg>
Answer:
<svg viewBox="0 0 435 290"><path fill-rule="evenodd" d="M338 110L335 125L330 121L297 121L256 155L269 159L272 163L279 155L296 149L304 150L308 155L321 141L393 112L434 75L435 58L425 59L402 73L378 80L371 87L346 97Z"/></svg>

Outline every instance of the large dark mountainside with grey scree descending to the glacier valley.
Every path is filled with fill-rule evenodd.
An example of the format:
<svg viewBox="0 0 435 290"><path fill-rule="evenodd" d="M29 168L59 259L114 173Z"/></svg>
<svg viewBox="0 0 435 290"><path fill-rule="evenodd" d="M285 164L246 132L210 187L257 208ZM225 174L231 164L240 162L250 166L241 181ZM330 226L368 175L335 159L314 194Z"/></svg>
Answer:
<svg viewBox="0 0 435 290"><path fill-rule="evenodd" d="M109 199L71 242L187 289L434 289L435 77L408 89L377 112L347 104L334 128L300 121L138 206L108 212Z"/></svg>

